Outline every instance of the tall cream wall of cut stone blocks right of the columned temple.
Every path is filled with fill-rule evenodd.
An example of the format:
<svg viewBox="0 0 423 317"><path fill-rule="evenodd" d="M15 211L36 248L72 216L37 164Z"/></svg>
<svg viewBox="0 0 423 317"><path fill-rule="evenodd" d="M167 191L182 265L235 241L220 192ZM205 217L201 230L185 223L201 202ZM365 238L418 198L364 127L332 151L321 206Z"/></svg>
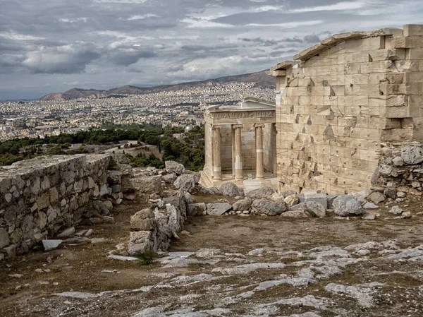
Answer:
<svg viewBox="0 0 423 317"><path fill-rule="evenodd" d="M276 80L279 188L368 189L381 143L423 140L422 47L422 25L405 25L334 35L295 56Z"/></svg>

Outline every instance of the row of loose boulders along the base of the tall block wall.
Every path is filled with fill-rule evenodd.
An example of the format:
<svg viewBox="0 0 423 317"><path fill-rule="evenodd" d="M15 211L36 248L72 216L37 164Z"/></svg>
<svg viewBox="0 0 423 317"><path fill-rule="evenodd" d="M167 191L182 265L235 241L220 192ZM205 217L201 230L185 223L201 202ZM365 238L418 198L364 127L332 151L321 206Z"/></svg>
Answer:
<svg viewBox="0 0 423 317"><path fill-rule="evenodd" d="M226 183L221 189L202 189L202 192L235 196L237 201L232 205L228 201L219 199L219 203L207 205L197 203L192 206L190 215L243 215L250 214L283 217L326 217L333 213L335 217L362 216L365 220L374 220L379 213L369 213L369 210L379 209L380 203L401 203L405 201L410 189L401 186L375 187L372 191L360 191L350 195L328 195L316 190L283 191L276 193L273 189L262 187L243 195L243 189L233 183ZM205 208L205 210L204 210ZM400 211L399 211L400 210ZM398 206L389 213L400 215L402 218L411 217L411 213L400 209Z"/></svg>

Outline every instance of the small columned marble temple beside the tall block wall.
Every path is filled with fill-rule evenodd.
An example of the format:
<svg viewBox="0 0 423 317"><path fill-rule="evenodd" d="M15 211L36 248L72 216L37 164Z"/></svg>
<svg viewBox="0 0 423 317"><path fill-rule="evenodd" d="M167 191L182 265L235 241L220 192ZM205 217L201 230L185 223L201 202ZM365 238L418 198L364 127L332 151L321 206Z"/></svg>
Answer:
<svg viewBox="0 0 423 317"><path fill-rule="evenodd" d="M274 103L247 97L237 106L207 107L204 121L204 185L231 181L247 190L276 189Z"/></svg>

